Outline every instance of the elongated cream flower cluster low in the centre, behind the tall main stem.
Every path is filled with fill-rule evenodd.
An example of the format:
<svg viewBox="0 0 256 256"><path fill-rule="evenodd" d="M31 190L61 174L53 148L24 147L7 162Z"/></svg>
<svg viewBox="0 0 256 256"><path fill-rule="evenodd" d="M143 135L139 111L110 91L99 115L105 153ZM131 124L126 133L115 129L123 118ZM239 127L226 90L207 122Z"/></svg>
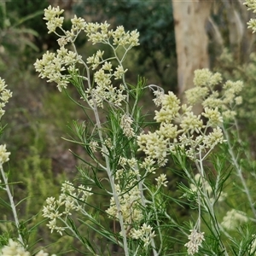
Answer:
<svg viewBox="0 0 256 256"><path fill-rule="evenodd" d="M119 212L121 212L124 219L126 235L131 239L143 241L143 247L148 247L152 239L154 239L155 234L149 224L140 224L143 220L143 208L141 191L137 184L137 177L140 177L137 164L135 158L127 159L120 157L119 165L122 168L114 173L115 180L117 181L115 189L118 193L120 211L118 211L114 197L112 197L110 199L110 207L106 212L109 214L109 217L117 219ZM152 163L148 164L152 166ZM129 181L129 183L124 185L122 183L124 180ZM156 178L156 181L157 186L166 186L166 175L160 175L160 177Z"/></svg>

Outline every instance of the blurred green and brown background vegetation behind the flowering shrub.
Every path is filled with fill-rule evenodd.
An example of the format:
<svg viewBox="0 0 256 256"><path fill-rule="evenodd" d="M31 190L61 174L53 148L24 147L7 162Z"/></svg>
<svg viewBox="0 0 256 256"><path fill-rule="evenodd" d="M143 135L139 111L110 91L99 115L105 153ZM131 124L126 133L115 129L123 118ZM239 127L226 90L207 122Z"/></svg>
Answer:
<svg viewBox="0 0 256 256"><path fill-rule="evenodd" d="M55 84L47 84L38 79L38 74L33 68L33 63L46 50L55 50L58 47L55 35L48 34L43 20L44 9L49 4L60 5L61 9L66 10L67 18L76 14L83 16L87 21L108 20L113 27L123 25L125 30L137 29L140 32L140 46L133 49L127 57L126 65L130 70L130 73L127 73L127 81L136 84L137 76L140 75L147 79L147 84L158 84L165 90L177 92L177 56L171 0L1 1L0 77L6 80L9 89L14 93L3 117L3 125L7 123L8 126L1 137L1 143L6 143L11 152L10 179L12 182L19 182L14 185L15 201L26 198L26 201L20 203L18 214L23 220L31 218L28 227L32 227L37 221L43 221L41 214L36 214L41 211L48 196L59 194L60 183L76 177L77 160L68 149L80 152L79 148L65 142L61 137L67 137L67 125L72 123L73 119L83 120L83 113L79 112L64 93L55 88ZM213 18L224 26L226 14L224 9L221 10L222 12L215 14ZM69 25L70 21L67 19L64 26L68 28ZM223 36L226 38L225 46L229 49L226 30L223 30ZM252 86L255 83L255 57L252 57L249 64L234 59L231 54L214 58L216 51L213 43L209 47L212 68L224 72L226 78L246 79L247 88L253 90L245 92L247 100L254 104L246 106L250 111L255 111L255 89ZM83 36L79 38L77 46L80 54L84 56L90 55L95 49ZM250 65L250 69L246 65ZM236 76L233 70L236 70ZM75 95L73 88L68 90ZM152 103L148 96L150 98L151 95L148 93L143 104L150 113L154 109L150 109ZM247 119L249 117L243 119L243 122ZM252 131L254 127L251 125L243 128ZM172 176L172 179L169 179L172 180L169 189L174 191L177 177L169 175ZM176 214L183 216L187 214L187 210L179 209ZM3 218L11 218L11 212L6 208L0 206L0 212L3 212ZM6 226L0 224L0 235L6 229ZM65 252L70 249L67 245L72 243L72 238L68 236L61 239L59 236L49 236L49 230L44 228L44 224L35 229L33 234L30 244L39 237L42 238L39 240L42 246L55 242L53 247L49 247L49 252L52 253Z"/></svg>

